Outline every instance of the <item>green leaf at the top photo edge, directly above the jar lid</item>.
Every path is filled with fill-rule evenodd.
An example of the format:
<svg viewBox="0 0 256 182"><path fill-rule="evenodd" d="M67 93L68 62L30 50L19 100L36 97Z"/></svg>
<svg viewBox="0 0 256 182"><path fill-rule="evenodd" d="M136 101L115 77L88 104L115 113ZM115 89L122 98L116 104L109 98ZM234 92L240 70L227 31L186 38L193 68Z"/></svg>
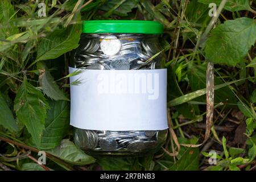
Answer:
<svg viewBox="0 0 256 182"><path fill-rule="evenodd" d="M100 7L100 10L108 11L107 15L116 14L118 16L127 16L131 9L137 7L137 1L134 0L112 0L106 1L104 5Z"/></svg>

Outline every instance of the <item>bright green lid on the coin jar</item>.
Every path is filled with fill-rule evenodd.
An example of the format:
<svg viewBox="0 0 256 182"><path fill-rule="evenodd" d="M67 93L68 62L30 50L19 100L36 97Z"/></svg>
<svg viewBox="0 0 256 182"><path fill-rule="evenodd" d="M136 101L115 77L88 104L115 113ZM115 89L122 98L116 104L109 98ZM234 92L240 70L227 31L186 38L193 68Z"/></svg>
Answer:
<svg viewBox="0 0 256 182"><path fill-rule="evenodd" d="M163 25L159 22L144 20L89 20L82 22L82 32L88 34L162 34Z"/></svg>

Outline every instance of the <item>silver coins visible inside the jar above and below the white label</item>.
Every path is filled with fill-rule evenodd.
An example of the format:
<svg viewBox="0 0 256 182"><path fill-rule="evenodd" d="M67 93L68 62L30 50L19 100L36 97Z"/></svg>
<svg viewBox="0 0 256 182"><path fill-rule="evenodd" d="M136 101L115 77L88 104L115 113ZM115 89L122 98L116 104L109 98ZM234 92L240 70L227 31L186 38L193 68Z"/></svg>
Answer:
<svg viewBox="0 0 256 182"><path fill-rule="evenodd" d="M73 55L73 67L99 70L157 69L164 58L154 38L139 34L87 34ZM161 145L166 131L75 129L75 142L90 151L142 152Z"/></svg>

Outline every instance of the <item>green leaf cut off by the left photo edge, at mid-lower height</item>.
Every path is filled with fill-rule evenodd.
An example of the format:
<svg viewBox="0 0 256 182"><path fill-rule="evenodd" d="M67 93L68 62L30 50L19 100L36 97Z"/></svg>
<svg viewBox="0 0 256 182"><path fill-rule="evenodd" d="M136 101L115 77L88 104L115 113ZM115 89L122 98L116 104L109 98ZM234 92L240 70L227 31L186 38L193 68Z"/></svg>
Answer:
<svg viewBox="0 0 256 182"><path fill-rule="evenodd" d="M7 106L5 98L3 98L2 96L2 93L0 93L0 110L0 125L10 131L18 131L18 125L15 122L13 113L11 113L10 108Z"/></svg>

